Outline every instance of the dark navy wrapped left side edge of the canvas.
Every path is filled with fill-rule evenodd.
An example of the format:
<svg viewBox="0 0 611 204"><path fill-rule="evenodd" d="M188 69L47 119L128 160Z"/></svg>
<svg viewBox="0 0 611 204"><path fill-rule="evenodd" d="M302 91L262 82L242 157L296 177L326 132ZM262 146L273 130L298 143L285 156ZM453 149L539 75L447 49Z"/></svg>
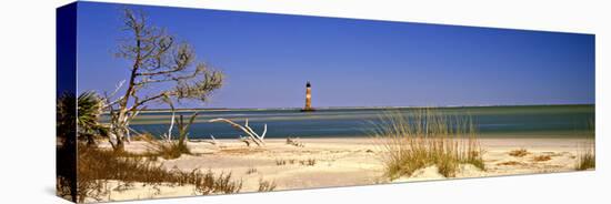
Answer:
<svg viewBox="0 0 611 204"><path fill-rule="evenodd" d="M56 11L57 194L77 202L77 3Z"/></svg>

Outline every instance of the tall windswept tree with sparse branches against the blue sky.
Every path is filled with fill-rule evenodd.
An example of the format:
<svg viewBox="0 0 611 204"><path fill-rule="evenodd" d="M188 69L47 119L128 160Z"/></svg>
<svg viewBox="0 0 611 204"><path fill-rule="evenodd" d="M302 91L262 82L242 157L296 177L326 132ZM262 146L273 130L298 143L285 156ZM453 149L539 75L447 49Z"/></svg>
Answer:
<svg viewBox="0 0 611 204"><path fill-rule="evenodd" d="M151 26L141 11L123 11L122 30L128 37L121 39L117 57L131 62L130 73L124 92L117 94L121 83L113 94L107 94L104 106L111 118L110 143L117 151L123 150L124 141L129 141L130 121L147 104L168 99L207 101L223 82L220 71L196 61L190 44L177 42L164 29Z"/></svg>

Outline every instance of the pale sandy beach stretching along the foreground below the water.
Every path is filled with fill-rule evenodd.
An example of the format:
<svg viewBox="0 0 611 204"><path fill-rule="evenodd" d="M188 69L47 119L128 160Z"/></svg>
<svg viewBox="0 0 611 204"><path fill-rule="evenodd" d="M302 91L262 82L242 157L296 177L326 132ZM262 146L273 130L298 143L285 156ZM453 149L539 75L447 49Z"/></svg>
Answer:
<svg viewBox="0 0 611 204"><path fill-rule="evenodd" d="M242 180L240 192L257 192L260 181L273 182L274 191L332 186L371 185L412 181L447 180L437 166L414 172L411 176L390 181L384 176L381 146L373 139L300 139L302 146L287 144L286 139L266 140L261 147L248 147L237 140L218 140L220 144L189 142L192 155L176 160L159 157L158 164L167 169L190 172L212 171L231 173ZM578 145L585 139L481 139L484 149L485 171L471 164L461 164L455 177L533 174L574 171ZM109 147L101 144L101 147ZM524 149L523 155L510 155ZM126 145L133 153L147 151L147 143L134 141ZM110 182L112 190L104 201L159 198L197 195L192 186L142 184L124 185Z"/></svg>

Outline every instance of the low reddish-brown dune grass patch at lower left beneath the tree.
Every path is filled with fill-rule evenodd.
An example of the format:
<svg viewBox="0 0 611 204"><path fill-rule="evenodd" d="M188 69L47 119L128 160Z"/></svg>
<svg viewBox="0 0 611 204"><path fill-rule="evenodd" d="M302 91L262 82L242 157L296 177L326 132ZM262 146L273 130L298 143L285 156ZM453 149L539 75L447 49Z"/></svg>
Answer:
<svg viewBox="0 0 611 204"><path fill-rule="evenodd" d="M211 171L167 170L144 160L146 156L111 150L79 146L78 152L79 203L87 197L100 201L108 195L109 190L104 187L108 181L126 184L139 182L148 185L193 185L193 192L202 195L238 193L242 187L242 181L233 181L231 173L216 176Z"/></svg>

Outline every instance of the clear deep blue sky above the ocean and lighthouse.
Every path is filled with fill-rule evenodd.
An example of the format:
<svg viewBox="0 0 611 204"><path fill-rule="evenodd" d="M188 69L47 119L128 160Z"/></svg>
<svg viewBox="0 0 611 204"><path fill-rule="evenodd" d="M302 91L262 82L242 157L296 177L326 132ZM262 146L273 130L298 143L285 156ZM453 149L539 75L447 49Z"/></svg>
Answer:
<svg viewBox="0 0 611 204"><path fill-rule="evenodd" d="M80 2L79 92L112 91L119 4ZM208 103L182 108L594 103L594 35L134 7L226 73ZM152 106L164 108L164 106Z"/></svg>

